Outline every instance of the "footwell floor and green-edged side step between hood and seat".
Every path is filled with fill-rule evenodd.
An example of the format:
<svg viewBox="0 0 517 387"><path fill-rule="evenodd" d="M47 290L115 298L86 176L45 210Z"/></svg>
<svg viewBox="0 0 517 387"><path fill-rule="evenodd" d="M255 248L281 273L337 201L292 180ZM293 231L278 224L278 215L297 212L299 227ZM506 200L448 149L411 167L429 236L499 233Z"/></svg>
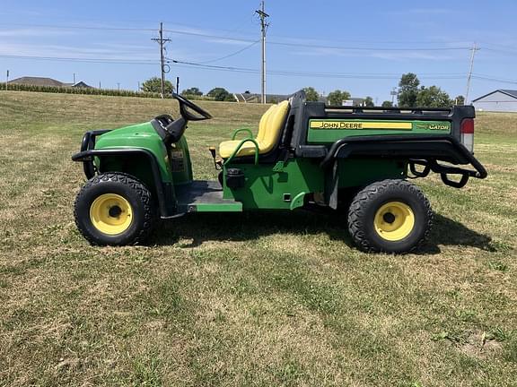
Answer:
<svg viewBox="0 0 517 387"><path fill-rule="evenodd" d="M177 185L179 212L242 212L242 203L223 199L223 188L217 181L196 180Z"/></svg>

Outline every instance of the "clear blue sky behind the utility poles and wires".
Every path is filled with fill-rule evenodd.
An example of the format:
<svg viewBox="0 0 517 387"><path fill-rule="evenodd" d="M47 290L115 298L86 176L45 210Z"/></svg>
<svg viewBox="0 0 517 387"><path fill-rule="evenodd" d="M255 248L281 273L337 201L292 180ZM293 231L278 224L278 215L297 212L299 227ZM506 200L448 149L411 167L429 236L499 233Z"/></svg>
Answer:
<svg viewBox="0 0 517 387"><path fill-rule="evenodd" d="M159 76L153 38L163 22L166 57L180 90L260 92L259 0L2 0L0 79L41 76L136 90ZM517 2L266 0L267 92L390 100L402 73L451 97L517 89ZM180 63L173 63L172 60Z"/></svg>

